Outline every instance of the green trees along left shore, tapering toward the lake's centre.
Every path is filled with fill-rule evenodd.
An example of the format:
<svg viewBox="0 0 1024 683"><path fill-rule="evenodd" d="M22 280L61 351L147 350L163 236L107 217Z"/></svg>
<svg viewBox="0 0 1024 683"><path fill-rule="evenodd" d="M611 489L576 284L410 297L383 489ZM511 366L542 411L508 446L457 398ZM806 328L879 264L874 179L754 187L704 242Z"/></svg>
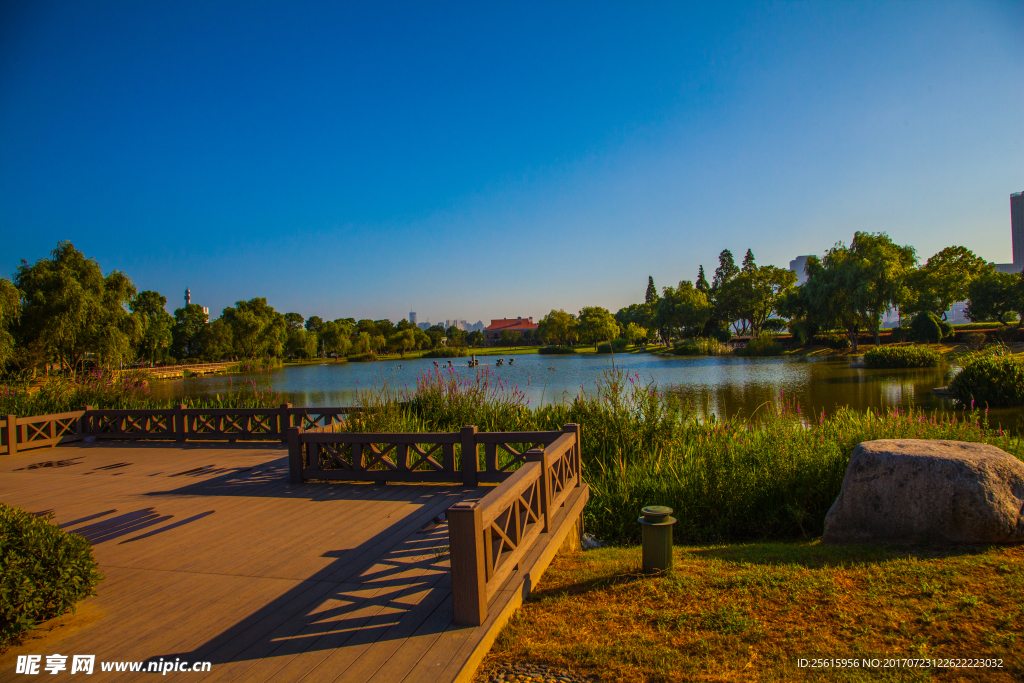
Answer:
<svg viewBox="0 0 1024 683"><path fill-rule="evenodd" d="M74 374L87 364L404 354L484 341L481 332L421 330L406 319L304 318L279 312L264 297L238 301L212 321L198 304L173 314L166 307L167 297L137 291L119 270L104 274L95 259L61 242L48 257L23 260L11 280L0 279L0 368L34 374L55 365Z"/></svg>

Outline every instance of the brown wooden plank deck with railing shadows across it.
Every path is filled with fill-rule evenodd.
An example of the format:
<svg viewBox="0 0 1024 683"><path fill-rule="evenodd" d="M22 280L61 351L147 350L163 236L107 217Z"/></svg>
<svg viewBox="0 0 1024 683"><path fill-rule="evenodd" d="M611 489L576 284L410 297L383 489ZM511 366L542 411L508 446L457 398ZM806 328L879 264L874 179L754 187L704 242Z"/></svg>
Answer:
<svg viewBox="0 0 1024 683"><path fill-rule="evenodd" d="M48 463L50 466L39 466ZM0 459L0 501L89 539L105 581L19 653L212 663L195 681L446 682L468 678L561 537L539 544L487 622L452 620L436 515L488 487L288 483L273 443L75 444ZM575 513L579 513L580 503ZM568 514L568 511L566 511ZM573 517L574 519L574 517ZM564 526L564 525L563 525ZM69 657L69 670L71 658ZM45 674L45 672L43 672ZM47 680L69 677L66 671ZM72 678L72 680L74 680Z"/></svg>

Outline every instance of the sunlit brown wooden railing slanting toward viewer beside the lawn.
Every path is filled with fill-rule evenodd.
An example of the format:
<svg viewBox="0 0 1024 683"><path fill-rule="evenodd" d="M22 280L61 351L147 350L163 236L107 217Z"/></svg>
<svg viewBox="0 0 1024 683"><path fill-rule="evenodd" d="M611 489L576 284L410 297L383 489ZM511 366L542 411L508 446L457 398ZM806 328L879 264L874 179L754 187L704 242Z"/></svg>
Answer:
<svg viewBox="0 0 1024 683"><path fill-rule="evenodd" d="M550 533L556 522L574 521L556 520L556 515L584 486L579 425L566 425L550 444L528 451L525 460L481 500L457 503L447 510L457 624L482 624L488 601L534 551L542 535Z"/></svg>

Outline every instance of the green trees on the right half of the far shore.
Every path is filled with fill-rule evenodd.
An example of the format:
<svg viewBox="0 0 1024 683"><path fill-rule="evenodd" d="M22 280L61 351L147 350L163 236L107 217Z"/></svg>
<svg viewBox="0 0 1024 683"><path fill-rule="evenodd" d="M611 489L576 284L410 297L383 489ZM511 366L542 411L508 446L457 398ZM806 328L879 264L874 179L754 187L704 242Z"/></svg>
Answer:
<svg viewBox="0 0 1024 683"><path fill-rule="evenodd" d="M845 335L854 352L862 333L880 343L890 312L901 329L923 318L939 321L953 303L967 301L974 322L1004 326L1024 321L1024 273L998 272L965 247L947 247L920 264L913 247L895 244L884 232L856 232L849 245L837 243L824 256L811 256L807 281L774 265L758 265L748 249L736 265L722 250L708 282L703 265L695 282L684 280L659 293L653 278L641 303L612 315L600 307L579 314L552 310L540 322L541 338L551 344L592 343L623 338L630 343L672 339L759 336L788 330L801 343L822 333ZM1018 323L1020 327L1020 323ZM938 341L936 339L935 341Z"/></svg>

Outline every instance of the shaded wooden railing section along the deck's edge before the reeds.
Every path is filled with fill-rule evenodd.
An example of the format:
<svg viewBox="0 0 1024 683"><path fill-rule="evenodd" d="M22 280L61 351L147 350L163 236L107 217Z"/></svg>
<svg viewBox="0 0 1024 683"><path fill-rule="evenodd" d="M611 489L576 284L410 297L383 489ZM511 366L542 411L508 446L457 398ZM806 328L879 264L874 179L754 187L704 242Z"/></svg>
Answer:
<svg viewBox="0 0 1024 683"><path fill-rule="evenodd" d="M480 432L473 426L440 433L356 433L293 427L288 434L289 470L295 484L309 479L335 479L461 481L475 486L505 481L526 463L528 449L547 447L565 433Z"/></svg>

